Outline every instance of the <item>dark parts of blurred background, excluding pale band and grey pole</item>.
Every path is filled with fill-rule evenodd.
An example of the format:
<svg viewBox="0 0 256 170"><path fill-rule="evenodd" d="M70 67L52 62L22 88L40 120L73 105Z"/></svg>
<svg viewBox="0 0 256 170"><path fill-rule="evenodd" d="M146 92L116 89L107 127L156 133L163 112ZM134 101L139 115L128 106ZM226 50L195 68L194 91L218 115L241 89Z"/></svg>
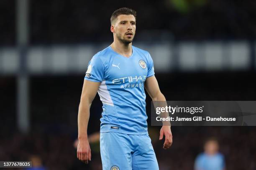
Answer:
<svg viewBox="0 0 256 170"><path fill-rule="evenodd" d="M156 78L166 100L256 100L256 1L31 0L28 4L26 48L110 44L113 41L110 16L119 7L131 7L138 13L135 42L171 41L175 45L183 41L246 41L250 46L251 64L244 70L184 72L175 68L157 72L156 68ZM0 1L0 50L18 47L16 9L16 1ZM147 31L151 33L145 33ZM84 71L86 69L87 63L84 63ZM20 75L0 72L0 160L25 161L31 155L38 155L48 169L100 170L99 143L91 144L89 165L77 160L73 147L84 73L26 74L30 130L24 133L17 125L17 77ZM146 101L150 117L151 99L147 96ZM97 95L91 107L88 134L100 129L101 106ZM220 142L227 170L256 170L255 127L172 127L172 148L163 150L164 141L158 140L160 127L151 127L150 121L148 125L160 170L192 170L205 139L212 136Z"/></svg>

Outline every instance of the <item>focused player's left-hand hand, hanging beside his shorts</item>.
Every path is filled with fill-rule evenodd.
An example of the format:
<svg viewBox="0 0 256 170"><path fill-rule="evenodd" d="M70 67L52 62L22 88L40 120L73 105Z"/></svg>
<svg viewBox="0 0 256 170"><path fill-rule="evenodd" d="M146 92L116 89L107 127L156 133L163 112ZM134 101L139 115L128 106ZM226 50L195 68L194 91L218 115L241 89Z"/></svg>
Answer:
<svg viewBox="0 0 256 170"><path fill-rule="evenodd" d="M88 140L78 140L77 145L77 158L83 163L88 164L88 160L91 161L91 148Z"/></svg>

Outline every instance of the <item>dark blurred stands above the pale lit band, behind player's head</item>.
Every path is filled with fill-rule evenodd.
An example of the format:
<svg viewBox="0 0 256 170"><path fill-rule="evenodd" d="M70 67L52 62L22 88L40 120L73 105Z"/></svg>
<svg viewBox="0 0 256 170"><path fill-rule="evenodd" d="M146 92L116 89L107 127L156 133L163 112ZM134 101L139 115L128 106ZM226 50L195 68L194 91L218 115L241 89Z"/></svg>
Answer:
<svg viewBox="0 0 256 170"><path fill-rule="evenodd" d="M15 45L15 0L0 2L0 45ZM31 45L108 42L119 7L137 15L135 40L255 39L254 0L29 1Z"/></svg>

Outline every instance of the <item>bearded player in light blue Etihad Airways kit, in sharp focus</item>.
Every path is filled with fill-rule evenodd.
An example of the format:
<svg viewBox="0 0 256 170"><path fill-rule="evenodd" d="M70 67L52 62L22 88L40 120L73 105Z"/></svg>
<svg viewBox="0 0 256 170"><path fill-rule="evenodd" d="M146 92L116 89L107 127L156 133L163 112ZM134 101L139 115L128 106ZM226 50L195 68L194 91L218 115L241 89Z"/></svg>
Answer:
<svg viewBox="0 0 256 170"><path fill-rule="evenodd" d="M154 76L150 54L132 46L136 11L115 10L110 30L114 42L89 62L79 104L77 158L91 160L87 137L90 105L98 92L103 104L100 153L103 170L158 170L156 155L148 136L146 94L154 101L166 101ZM145 84L145 86L144 86ZM162 126L164 149L172 145L170 126Z"/></svg>

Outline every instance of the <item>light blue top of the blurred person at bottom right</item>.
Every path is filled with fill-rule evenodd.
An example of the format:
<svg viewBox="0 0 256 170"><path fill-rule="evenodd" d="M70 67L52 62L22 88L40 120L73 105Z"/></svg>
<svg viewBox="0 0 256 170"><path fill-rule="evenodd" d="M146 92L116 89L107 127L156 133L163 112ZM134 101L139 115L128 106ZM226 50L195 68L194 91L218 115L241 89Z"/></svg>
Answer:
<svg viewBox="0 0 256 170"><path fill-rule="evenodd" d="M224 170L225 160L220 153L207 155L202 153L197 156L195 161L195 170Z"/></svg>

